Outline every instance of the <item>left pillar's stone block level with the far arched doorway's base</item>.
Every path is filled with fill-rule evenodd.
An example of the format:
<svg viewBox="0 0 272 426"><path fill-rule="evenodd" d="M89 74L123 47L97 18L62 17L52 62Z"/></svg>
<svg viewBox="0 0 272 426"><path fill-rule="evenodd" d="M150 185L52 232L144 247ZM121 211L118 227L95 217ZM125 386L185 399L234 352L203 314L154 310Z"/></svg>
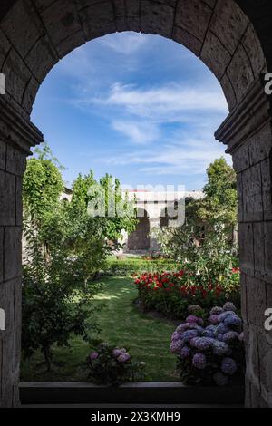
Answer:
<svg viewBox="0 0 272 426"><path fill-rule="evenodd" d="M5 228L5 281L21 276L22 273L22 229L20 227Z"/></svg>

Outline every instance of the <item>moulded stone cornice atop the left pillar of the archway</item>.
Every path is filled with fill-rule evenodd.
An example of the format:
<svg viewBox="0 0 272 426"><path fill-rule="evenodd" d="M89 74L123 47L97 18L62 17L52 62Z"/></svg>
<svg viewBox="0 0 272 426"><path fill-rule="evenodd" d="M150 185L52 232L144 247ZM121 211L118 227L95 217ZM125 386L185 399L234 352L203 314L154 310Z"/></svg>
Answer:
<svg viewBox="0 0 272 426"><path fill-rule="evenodd" d="M31 147L44 140L41 131L24 119L3 95L0 96L0 138L27 155L31 153Z"/></svg>

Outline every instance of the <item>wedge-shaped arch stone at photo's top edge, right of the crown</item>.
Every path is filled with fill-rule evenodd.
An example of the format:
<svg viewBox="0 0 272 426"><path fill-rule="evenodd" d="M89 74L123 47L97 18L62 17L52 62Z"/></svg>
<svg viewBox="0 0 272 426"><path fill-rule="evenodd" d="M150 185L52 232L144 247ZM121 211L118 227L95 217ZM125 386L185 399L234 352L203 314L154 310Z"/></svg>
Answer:
<svg viewBox="0 0 272 426"><path fill-rule="evenodd" d="M212 10L199 0L178 0L175 26L180 26L204 41Z"/></svg>

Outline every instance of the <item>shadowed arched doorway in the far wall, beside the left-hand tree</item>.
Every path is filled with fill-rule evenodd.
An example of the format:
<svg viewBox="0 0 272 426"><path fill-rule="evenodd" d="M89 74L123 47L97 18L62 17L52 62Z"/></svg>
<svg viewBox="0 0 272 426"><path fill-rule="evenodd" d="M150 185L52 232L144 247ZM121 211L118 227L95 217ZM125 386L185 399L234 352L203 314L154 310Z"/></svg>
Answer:
<svg viewBox="0 0 272 426"><path fill-rule="evenodd" d="M128 249L131 251L148 251L151 248L151 227L147 211L138 209L137 218L137 227L128 237Z"/></svg>

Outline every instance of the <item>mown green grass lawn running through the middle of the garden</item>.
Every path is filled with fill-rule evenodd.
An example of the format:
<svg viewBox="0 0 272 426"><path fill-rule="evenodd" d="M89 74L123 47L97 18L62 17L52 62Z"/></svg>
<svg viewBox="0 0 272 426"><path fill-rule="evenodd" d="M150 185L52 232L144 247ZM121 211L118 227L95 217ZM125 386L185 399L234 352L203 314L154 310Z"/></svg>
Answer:
<svg viewBox="0 0 272 426"><path fill-rule="evenodd" d="M170 335L175 325L141 314L133 305L137 290L131 278L107 277L102 280L102 289L95 296L95 303L104 308L97 314L101 332L96 337L112 344L126 346L137 361L145 361L146 381L170 382L175 376L175 357L170 354ZM71 348L53 349L53 371L44 372L41 353L22 363L23 381L73 381L87 379L85 359L90 352L88 344L73 337Z"/></svg>

